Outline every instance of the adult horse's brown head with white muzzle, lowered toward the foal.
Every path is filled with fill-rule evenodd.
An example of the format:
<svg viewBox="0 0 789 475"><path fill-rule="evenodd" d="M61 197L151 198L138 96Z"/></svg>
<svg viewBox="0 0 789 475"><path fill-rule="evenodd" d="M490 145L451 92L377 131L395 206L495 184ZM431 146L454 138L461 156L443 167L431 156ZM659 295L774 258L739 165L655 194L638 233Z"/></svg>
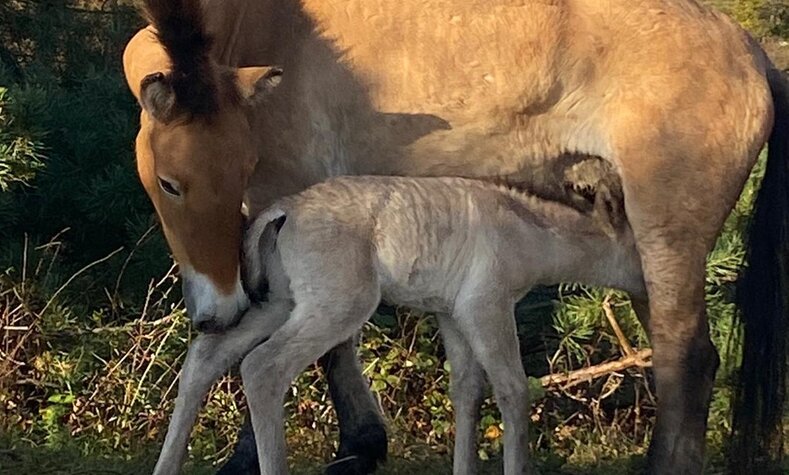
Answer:
<svg viewBox="0 0 789 475"><path fill-rule="evenodd" d="M199 330L246 310L239 260L241 203L257 161L250 111L279 83L271 67L227 68L210 56L199 0L146 0L153 29L124 54L142 106L137 169L179 264Z"/></svg>

